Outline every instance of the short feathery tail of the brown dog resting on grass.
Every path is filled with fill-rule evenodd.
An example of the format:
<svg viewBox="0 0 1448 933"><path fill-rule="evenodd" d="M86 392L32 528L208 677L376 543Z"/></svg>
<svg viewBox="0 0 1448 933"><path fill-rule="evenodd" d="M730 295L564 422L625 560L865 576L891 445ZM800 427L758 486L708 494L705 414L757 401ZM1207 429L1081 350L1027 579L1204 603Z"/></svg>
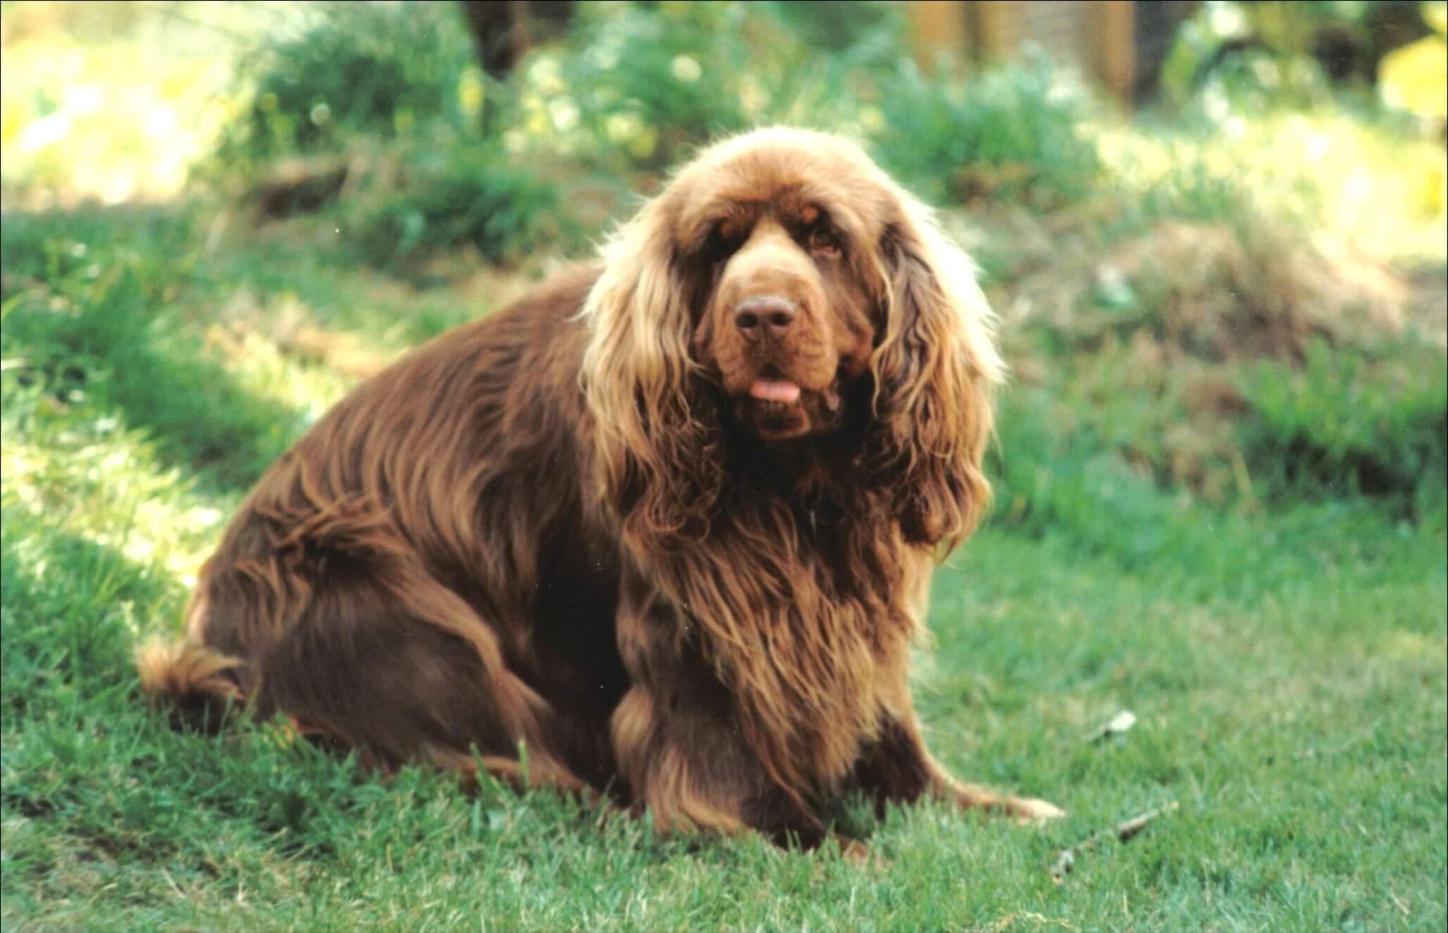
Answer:
<svg viewBox="0 0 1448 933"><path fill-rule="evenodd" d="M191 642L148 642L136 652L140 690L171 708L178 726L216 732L246 697L237 677L242 662Z"/></svg>

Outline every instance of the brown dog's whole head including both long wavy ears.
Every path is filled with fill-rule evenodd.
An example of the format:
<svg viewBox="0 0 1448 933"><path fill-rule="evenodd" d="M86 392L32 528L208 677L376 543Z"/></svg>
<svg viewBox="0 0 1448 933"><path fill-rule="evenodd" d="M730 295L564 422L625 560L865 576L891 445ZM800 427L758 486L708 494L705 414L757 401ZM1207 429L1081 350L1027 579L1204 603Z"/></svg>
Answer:
<svg viewBox="0 0 1448 933"><path fill-rule="evenodd" d="M584 387L605 495L678 532L731 435L860 427L859 475L917 543L969 532L1001 364L964 254L854 145L767 129L704 151L604 248Z"/></svg>

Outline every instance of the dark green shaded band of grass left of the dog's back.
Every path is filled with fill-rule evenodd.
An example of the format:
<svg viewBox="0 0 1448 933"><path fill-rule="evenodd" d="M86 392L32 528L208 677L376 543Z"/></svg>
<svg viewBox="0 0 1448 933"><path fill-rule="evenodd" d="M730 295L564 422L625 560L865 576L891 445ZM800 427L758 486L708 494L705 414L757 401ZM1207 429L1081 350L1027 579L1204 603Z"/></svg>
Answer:
<svg viewBox="0 0 1448 933"><path fill-rule="evenodd" d="M184 209L88 209L4 219L7 367L59 404L81 398L145 429L203 491L245 490L306 429L256 397L185 327L204 287Z"/></svg>

